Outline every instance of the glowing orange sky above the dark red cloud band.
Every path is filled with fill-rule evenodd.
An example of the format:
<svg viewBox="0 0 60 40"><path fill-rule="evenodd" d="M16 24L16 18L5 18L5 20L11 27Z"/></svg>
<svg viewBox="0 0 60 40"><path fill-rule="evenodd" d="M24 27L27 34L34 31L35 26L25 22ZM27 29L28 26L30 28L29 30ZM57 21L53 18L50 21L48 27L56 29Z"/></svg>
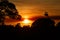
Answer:
<svg viewBox="0 0 60 40"><path fill-rule="evenodd" d="M60 15L60 0L10 0L20 15L40 16L47 11L49 16Z"/></svg>

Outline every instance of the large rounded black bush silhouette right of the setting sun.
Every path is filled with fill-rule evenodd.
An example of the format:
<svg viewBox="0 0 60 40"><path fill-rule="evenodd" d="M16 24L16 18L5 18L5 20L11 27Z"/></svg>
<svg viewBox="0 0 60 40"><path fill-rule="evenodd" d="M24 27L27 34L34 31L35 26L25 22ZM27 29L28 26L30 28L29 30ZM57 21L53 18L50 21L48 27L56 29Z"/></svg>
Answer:
<svg viewBox="0 0 60 40"><path fill-rule="evenodd" d="M54 21L50 18L39 18L32 24L32 30L51 31L54 28Z"/></svg>

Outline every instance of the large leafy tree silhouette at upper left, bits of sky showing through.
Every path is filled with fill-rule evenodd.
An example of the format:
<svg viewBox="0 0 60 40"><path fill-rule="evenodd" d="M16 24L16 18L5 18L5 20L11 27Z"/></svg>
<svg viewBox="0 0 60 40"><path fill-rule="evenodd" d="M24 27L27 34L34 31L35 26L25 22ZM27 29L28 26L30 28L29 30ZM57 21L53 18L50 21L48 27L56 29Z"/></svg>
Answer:
<svg viewBox="0 0 60 40"><path fill-rule="evenodd" d="M0 0L0 23L4 23L6 16L12 19L21 19L13 3L10 3L8 0Z"/></svg>

